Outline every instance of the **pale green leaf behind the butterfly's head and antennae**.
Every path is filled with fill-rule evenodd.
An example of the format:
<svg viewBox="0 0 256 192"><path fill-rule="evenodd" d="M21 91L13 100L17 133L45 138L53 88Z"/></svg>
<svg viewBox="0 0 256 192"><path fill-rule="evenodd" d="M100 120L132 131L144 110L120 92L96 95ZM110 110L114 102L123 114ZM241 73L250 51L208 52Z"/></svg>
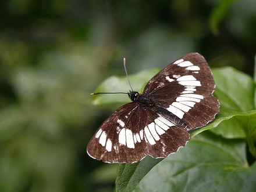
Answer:
<svg viewBox="0 0 256 192"><path fill-rule="evenodd" d="M141 92L147 83L155 74L157 74L159 69L151 69L141 71L136 74L129 75L131 86L134 90ZM126 76L111 76L105 81L103 81L94 92L128 92L130 90L129 83ZM129 103L131 100L125 94L102 94L95 95L94 104L112 104L112 103Z"/></svg>

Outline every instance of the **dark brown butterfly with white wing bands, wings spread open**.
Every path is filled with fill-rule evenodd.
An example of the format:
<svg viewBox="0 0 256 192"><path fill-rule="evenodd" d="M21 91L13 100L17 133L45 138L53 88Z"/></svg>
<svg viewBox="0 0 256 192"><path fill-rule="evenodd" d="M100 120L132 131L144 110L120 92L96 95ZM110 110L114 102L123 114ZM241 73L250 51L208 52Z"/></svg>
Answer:
<svg viewBox="0 0 256 192"><path fill-rule="evenodd" d="M220 104L214 89L202 55L181 57L152 77L142 94L127 93L131 103L103 122L88 143L88 155L109 163L133 163L146 155L168 157L186 145L190 130L215 118Z"/></svg>

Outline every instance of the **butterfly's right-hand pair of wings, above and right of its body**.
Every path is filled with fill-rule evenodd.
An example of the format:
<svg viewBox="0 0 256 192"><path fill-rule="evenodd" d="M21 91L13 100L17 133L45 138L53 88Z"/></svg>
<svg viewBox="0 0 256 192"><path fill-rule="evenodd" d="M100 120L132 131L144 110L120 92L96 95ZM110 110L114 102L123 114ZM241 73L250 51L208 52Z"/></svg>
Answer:
<svg viewBox="0 0 256 192"><path fill-rule="evenodd" d="M206 125L219 112L214 89L207 61L199 53L189 53L155 75L143 94L186 122L190 130Z"/></svg>

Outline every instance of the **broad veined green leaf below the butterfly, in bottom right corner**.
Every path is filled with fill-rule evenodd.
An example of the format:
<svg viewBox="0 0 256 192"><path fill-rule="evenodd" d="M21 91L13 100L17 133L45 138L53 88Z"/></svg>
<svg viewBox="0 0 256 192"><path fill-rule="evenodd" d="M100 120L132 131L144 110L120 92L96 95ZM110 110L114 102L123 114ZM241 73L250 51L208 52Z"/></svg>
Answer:
<svg viewBox="0 0 256 192"><path fill-rule="evenodd" d="M253 192L255 179L256 165L248 166L243 140L204 132L152 168L134 191Z"/></svg>

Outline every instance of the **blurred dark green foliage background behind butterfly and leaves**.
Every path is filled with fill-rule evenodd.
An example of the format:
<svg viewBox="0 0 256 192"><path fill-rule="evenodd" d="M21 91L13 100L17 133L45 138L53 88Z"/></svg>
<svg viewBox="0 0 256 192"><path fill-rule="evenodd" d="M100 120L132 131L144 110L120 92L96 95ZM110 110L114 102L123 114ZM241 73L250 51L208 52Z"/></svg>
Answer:
<svg viewBox="0 0 256 192"><path fill-rule="evenodd" d="M121 104L90 93L123 57L129 74L199 52L253 75L255 0L2 0L0 15L0 191L113 191L118 165L86 147Z"/></svg>

